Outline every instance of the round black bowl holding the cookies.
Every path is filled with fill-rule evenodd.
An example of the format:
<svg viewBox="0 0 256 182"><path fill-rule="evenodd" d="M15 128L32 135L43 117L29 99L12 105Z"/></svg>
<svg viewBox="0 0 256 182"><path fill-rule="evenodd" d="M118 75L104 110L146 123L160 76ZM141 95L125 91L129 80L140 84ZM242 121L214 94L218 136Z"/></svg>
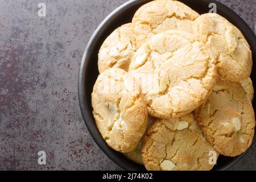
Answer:
<svg viewBox="0 0 256 182"><path fill-rule="evenodd" d="M253 51L253 60L256 60L256 37L250 27L247 26L247 24L240 18L240 16L234 13L234 11L230 10L228 7L222 5L222 3L215 0L180 1L185 3L185 5L191 7L193 10L197 11L199 14L208 13L210 9L209 3L216 3L217 13L224 16L242 31L243 35L251 46L251 50ZM119 152L112 150L112 148L110 148L108 144L106 144L94 122L91 106L91 93L93 90L93 85L99 74L97 61L98 51L101 47L101 44L104 42L107 36L115 30L115 28L121 26L122 24L131 22L135 11L137 11L139 7L147 2L150 2L150 0L132 0L126 2L105 18L105 20L100 24L100 26L98 26L97 30L92 35L92 38L90 38L89 40L89 43L84 52L84 56L82 57L79 73L79 103L84 122L94 141L98 144L101 150L104 151L110 159L112 159L120 167L126 170L146 169L144 168L144 166L131 162L131 160L125 158ZM255 66L253 68L255 68ZM256 73L254 70L255 69L253 69L253 73L251 75L253 82L256 81ZM253 102L253 107L256 108L255 102ZM240 160L245 154L246 152L240 156L237 156L236 158L220 156L214 169L228 169L229 167L233 166L233 164L235 164L238 160Z"/></svg>

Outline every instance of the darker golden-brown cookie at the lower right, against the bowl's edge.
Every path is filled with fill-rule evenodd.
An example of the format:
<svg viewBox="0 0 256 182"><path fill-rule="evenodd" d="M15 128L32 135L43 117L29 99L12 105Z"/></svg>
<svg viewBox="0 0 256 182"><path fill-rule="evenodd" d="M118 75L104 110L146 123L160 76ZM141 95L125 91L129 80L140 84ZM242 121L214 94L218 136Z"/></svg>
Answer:
<svg viewBox="0 0 256 182"><path fill-rule="evenodd" d="M209 100L196 110L196 118L210 144L222 155L240 155L253 140L254 110L239 82L217 81Z"/></svg>

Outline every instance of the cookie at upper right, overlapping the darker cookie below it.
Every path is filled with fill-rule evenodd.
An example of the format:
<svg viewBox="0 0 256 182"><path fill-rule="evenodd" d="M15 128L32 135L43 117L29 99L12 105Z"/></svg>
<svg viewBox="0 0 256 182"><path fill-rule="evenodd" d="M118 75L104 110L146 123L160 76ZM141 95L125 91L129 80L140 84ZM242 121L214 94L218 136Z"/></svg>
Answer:
<svg viewBox="0 0 256 182"><path fill-rule="evenodd" d="M252 53L241 31L218 14L199 16L194 22L198 39L208 46L223 80L240 82L252 69Z"/></svg>

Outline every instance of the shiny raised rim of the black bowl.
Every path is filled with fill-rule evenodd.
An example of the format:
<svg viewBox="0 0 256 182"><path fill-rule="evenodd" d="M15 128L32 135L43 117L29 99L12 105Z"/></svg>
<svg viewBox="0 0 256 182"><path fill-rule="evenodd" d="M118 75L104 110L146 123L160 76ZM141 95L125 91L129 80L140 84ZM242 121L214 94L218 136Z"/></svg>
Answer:
<svg viewBox="0 0 256 182"><path fill-rule="evenodd" d="M95 131L88 123L89 114L92 114L89 112L89 106L86 105L85 100L86 100L86 96L85 96L85 85L86 85L86 72L88 71L88 64L86 64L86 62L88 61L88 57L90 55L90 50L93 49L94 45L95 45L95 40L98 38L98 36L100 35L101 31L104 30L104 27L108 26L108 24L110 22L112 22L112 20L118 16L120 13L122 13L122 11L126 10L128 7L137 5L137 3L142 3L142 2L146 2L148 0L130 0L127 1L125 3L123 3L121 6L117 7L117 9L115 9L114 11L112 11L112 13L110 13L108 16L106 16L106 18L100 23L100 25L96 28L96 30L93 32L92 36L89 39L89 42L85 48L84 51L84 55L82 56L82 60L81 60L81 65L80 65L80 70L79 70L79 80L78 80L78 97L79 97L79 105L80 105L80 110L81 110L81 114L82 114L82 118L84 119L85 125L90 133L90 135L92 136L94 142L97 143L98 147L100 147L100 149L104 152L104 154L106 156L108 156L114 163L118 164L119 167L126 169L126 170L130 170L129 167L127 167L127 165L122 162L122 161L118 161L116 158L114 158L114 155L110 155L110 152L113 152L112 149L110 147L104 147L102 145L102 143L98 140L98 138L94 135L94 132L99 132L98 130ZM179 1L179 0L177 0ZM255 49L256 51L256 36L253 32L253 30L251 30L251 28L246 24L246 22L239 16L237 15L233 10L231 10L228 6L222 4L221 2L218 2L216 0L201 0L203 2L207 2L207 3L216 3L218 9L222 9L225 10L225 14L232 14L232 19L236 19L238 23L241 24L241 26L246 27L246 34L249 34L248 36L252 37L253 40L251 41L253 43L253 46L251 46L251 49ZM224 16L225 17L225 16ZM253 47L253 48L252 48ZM251 146L253 146L253 144L255 143L256 140L256 135L254 136L254 140L251 143ZM251 146L241 155L236 156L235 158L233 158L233 160L227 164L225 164L225 166L218 168L218 171L225 171L227 169L229 169L230 167L232 167L234 164L236 164L240 159L242 159L243 156L245 156L247 154L247 152L250 150Z"/></svg>

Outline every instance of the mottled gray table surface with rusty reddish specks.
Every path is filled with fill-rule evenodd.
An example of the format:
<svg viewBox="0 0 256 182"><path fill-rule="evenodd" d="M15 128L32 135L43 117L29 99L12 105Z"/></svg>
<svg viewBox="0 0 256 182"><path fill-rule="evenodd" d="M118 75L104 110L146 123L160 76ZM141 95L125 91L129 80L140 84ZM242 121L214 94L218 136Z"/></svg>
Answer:
<svg viewBox="0 0 256 182"><path fill-rule="evenodd" d="M38 16L41 2L46 17ZM121 169L85 127L77 78L90 36L124 2L0 0L0 169ZM255 0L221 2L254 30ZM231 169L255 170L256 145Z"/></svg>

